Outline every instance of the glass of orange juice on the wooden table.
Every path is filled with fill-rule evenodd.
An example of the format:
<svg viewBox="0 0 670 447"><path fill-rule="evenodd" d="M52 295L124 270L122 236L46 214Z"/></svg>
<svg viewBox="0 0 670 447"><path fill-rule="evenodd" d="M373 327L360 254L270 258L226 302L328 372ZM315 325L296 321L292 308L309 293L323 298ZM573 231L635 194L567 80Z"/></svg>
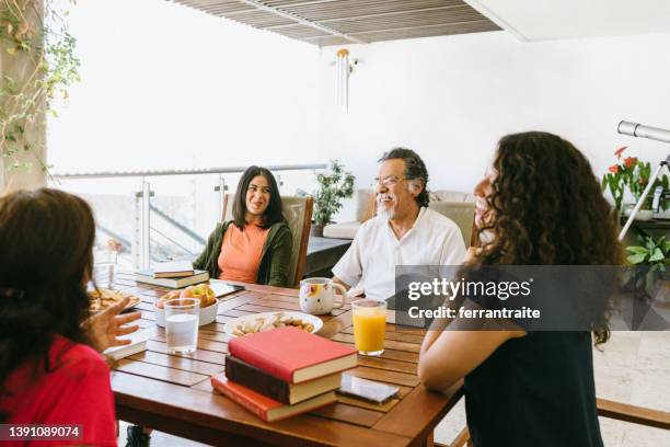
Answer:
<svg viewBox="0 0 670 447"><path fill-rule="evenodd" d="M351 302L354 343L358 354L379 356L384 352L386 302L359 299Z"/></svg>

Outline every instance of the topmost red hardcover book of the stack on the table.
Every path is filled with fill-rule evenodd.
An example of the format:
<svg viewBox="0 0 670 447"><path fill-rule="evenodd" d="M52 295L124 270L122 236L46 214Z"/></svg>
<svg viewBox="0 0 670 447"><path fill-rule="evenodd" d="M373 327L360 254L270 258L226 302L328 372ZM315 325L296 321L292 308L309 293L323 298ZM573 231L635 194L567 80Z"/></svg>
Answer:
<svg viewBox="0 0 670 447"><path fill-rule="evenodd" d="M228 351L288 383L301 383L356 367L355 349L297 328L232 339Z"/></svg>

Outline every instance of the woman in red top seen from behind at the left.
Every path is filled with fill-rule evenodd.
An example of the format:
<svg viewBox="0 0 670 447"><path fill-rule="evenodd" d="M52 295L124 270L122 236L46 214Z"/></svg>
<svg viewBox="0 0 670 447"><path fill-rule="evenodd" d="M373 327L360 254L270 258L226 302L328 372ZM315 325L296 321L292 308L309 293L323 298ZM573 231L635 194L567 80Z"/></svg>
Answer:
<svg viewBox="0 0 670 447"><path fill-rule="evenodd" d="M0 423L81 426L77 439L9 445L116 446L109 369L82 326L94 239L79 197L0 197Z"/></svg>

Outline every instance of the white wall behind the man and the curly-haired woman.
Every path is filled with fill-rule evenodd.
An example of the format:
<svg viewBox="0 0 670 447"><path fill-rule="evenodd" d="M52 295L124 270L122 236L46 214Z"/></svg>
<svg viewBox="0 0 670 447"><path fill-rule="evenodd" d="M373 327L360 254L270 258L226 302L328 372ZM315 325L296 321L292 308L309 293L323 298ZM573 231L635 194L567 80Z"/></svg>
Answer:
<svg viewBox="0 0 670 447"><path fill-rule="evenodd" d="M521 43L505 32L349 46L350 108L335 102L336 47L322 50L322 146L366 187L394 146L416 150L429 186L471 191L505 134L573 141L598 175L612 152L658 160L670 146L616 134L621 119L670 127L670 34ZM353 217L351 204L339 219Z"/></svg>

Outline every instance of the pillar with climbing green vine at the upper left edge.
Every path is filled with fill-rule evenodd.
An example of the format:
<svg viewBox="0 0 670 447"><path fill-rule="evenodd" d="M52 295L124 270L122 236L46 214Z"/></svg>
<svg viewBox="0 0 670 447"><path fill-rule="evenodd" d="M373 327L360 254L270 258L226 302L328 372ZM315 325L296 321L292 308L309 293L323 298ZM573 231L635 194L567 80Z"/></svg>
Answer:
<svg viewBox="0 0 670 447"><path fill-rule="evenodd" d="M58 116L55 103L67 100L68 88L80 79L77 39L66 21L67 7L74 2L0 0L0 48L7 55L0 80L0 153L8 170L32 170L34 162L22 157L28 152L28 160L48 174L50 167L38 156L44 142L28 129L45 126L43 113Z"/></svg>

